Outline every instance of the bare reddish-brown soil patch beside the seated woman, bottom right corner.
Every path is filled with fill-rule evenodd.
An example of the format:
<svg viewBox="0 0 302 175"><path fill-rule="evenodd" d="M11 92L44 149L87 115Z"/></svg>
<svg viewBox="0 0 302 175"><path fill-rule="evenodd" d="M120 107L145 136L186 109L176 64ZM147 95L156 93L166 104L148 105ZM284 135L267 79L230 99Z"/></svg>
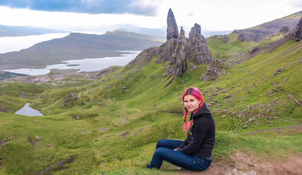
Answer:
<svg viewBox="0 0 302 175"><path fill-rule="evenodd" d="M299 153L299 155L291 155L290 160L267 162L245 153L236 153L231 156L229 163L224 161L212 163L208 169L201 172L174 167L175 169L180 169L179 173L175 173L177 175L301 175L302 156ZM167 168L163 167L163 169Z"/></svg>

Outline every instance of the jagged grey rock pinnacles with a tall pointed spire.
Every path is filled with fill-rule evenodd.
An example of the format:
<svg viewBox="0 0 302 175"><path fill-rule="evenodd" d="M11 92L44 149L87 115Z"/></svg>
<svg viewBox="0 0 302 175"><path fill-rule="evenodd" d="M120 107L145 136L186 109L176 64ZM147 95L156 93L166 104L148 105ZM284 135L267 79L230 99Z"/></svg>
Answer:
<svg viewBox="0 0 302 175"><path fill-rule="evenodd" d="M207 47L206 39L201 35L201 27L195 23L191 28L189 38L185 37L185 31L182 29L176 36L177 24L171 8L167 17L167 40L160 47L152 47L145 49L134 60L128 64L128 68L142 63L143 61L150 61L157 56L155 63L164 63L169 61L166 72L163 77L181 76L187 69L187 61L195 62L197 64L210 64L208 68L207 77L217 76L221 73L223 65L220 61L211 57L210 50ZM209 66L210 67L210 66ZM205 79L205 78L203 78Z"/></svg>

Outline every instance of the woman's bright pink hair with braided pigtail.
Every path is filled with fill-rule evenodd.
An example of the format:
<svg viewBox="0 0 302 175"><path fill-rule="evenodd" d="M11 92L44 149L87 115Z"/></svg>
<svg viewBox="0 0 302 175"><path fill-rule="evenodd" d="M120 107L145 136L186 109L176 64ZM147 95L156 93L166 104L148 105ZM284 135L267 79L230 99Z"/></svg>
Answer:
<svg viewBox="0 0 302 175"><path fill-rule="evenodd" d="M185 90L185 92L182 94L182 102L184 102L184 97L186 95L192 95L197 101L201 102L197 108L197 110L195 111L195 113L197 113L197 111L202 108L203 106L203 97L201 95L201 92L199 89L197 88L187 88ZM185 113L184 113L184 124L183 124L183 131L187 131L187 130L190 130L191 128L191 124L193 122L193 120L191 120L189 123L187 123L186 119L187 119L187 113L188 113L188 110L187 108L185 107ZM194 113L194 114L195 114Z"/></svg>

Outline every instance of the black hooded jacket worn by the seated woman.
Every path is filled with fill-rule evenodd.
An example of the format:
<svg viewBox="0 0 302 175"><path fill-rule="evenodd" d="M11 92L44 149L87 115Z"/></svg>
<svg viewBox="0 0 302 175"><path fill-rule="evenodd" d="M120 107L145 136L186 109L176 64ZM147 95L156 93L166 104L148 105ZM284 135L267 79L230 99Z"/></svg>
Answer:
<svg viewBox="0 0 302 175"><path fill-rule="evenodd" d="M177 148L177 151L193 154L199 158L209 158L215 143L215 123L206 103L203 103L197 113L191 113L193 120L188 137Z"/></svg>

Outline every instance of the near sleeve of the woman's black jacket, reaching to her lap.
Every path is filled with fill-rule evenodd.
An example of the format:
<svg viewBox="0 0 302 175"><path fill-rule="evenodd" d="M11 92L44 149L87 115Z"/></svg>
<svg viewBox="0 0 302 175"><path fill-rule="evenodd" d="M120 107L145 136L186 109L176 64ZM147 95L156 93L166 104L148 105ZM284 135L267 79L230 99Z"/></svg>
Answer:
<svg viewBox="0 0 302 175"><path fill-rule="evenodd" d="M209 124L206 120L202 119L200 121L195 122L194 124L194 133L192 135L192 140L186 146L183 146L178 151L186 154L196 153L200 149L200 145L207 134L209 129Z"/></svg>

